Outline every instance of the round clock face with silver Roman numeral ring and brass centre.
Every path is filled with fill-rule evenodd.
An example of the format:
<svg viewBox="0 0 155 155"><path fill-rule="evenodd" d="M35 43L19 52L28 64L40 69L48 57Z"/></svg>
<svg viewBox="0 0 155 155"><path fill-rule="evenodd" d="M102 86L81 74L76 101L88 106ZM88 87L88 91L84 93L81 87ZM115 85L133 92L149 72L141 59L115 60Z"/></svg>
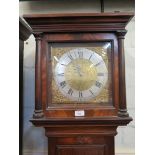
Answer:
<svg viewBox="0 0 155 155"><path fill-rule="evenodd" d="M108 80L104 60L87 48L74 48L56 61L54 69L56 85L59 91L72 101L91 100L99 95Z"/></svg>

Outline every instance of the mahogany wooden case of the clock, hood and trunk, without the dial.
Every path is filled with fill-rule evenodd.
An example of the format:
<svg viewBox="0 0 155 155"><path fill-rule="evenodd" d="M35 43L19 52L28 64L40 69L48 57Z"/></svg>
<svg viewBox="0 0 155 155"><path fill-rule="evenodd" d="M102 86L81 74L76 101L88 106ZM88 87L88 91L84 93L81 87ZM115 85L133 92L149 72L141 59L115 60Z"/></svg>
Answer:
<svg viewBox="0 0 155 155"><path fill-rule="evenodd" d="M30 121L35 126L45 128L49 155L54 155L57 151L67 152L73 144L76 145L75 150L77 145L85 144L87 147L89 145L96 147L99 152L104 150L105 155L114 155L114 136L117 134L117 127L127 125L132 121L126 105L124 37L127 33L125 27L133 16L133 13L24 15L36 39L35 109ZM104 40L113 42L113 105L91 109L88 104L84 106L85 116L83 117L75 117L74 112L77 109L69 108L69 105L48 109L46 54L48 44L52 42L102 42ZM79 106L79 110L81 108ZM65 146L60 147L60 144L65 144ZM99 145L96 146L96 144ZM111 149L106 147L101 149L101 144ZM85 151L91 154L93 150L87 147ZM80 149L84 152L83 147ZM63 155L62 152L60 154ZM82 155L82 152L79 154Z"/></svg>

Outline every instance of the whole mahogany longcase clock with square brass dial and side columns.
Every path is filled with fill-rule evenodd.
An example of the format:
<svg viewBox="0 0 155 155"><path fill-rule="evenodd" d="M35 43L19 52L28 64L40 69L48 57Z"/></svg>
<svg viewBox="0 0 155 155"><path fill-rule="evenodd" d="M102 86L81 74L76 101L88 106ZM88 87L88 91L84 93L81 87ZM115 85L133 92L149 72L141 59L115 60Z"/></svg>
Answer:
<svg viewBox="0 0 155 155"><path fill-rule="evenodd" d="M114 155L127 125L124 36L133 13L25 15L36 38L35 109L48 155Z"/></svg>

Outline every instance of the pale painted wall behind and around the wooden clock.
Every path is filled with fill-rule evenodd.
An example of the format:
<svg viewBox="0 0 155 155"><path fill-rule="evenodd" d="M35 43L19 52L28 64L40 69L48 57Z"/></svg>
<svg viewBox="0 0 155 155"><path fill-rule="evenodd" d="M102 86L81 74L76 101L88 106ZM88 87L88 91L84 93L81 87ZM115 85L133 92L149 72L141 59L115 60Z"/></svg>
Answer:
<svg viewBox="0 0 155 155"><path fill-rule="evenodd" d="M100 0L51 0L19 3L20 16L31 13L100 12ZM134 11L134 0L105 0L105 12ZM126 93L129 114L135 118L135 20L126 27L125 38ZM23 155L47 155L47 138L43 128L30 122L34 110L35 40L31 35L24 45L24 135ZM135 123L119 127L115 138L117 155L134 155Z"/></svg>

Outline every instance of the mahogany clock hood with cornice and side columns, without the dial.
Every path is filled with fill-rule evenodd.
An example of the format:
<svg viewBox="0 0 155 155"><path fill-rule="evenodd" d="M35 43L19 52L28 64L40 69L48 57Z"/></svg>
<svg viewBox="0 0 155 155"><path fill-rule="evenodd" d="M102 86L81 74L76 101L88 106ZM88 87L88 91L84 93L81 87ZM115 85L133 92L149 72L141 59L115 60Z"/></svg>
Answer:
<svg viewBox="0 0 155 155"><path fill-rule="evenodd" d="M133 13L44 14L25 15L36 38L36 103L35 114L44 118L74 118L75 111L85 111L85 118L128 116L125 93L123 40L125 26ZM111 44L111 100L108 104L55 104L51 91L52 74L49 49L54 44ZM55 94L56 95L56 94ZM40 115L39 115L40 114ZM36 118L35 117L35 118Z"/></svg>

